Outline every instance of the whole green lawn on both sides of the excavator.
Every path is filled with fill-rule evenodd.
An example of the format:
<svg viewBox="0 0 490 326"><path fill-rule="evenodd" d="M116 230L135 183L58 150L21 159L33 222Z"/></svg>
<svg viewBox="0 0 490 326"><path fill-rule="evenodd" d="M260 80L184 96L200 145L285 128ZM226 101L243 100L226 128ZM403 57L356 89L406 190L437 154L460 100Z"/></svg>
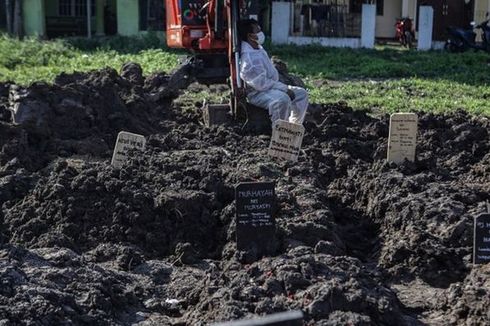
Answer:
<svg viewBox="0 0 490 326"><path fill-rule="evenodd" d="M463 109L490 116L490 55L374 50L318 46L268 47L303 77L311 101L345 101L358 109L384 112ZM183 51L169 50L156 36L116 37L104 42L83 39L40 42L0 36L0 81L19 84L52 81L61 72L87 71L127 61L141 64L146 74L170 71Z"/></svg>

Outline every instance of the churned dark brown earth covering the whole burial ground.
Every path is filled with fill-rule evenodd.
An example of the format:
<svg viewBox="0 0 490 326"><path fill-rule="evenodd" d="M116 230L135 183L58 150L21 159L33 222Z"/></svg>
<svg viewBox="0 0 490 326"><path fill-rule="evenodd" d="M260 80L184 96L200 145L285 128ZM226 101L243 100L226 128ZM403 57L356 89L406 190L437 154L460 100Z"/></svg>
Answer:
<svg viewBox="0 0 490 326"><path fill-rule="evenodd" d="M267 157L268 134L204 127L202 101L172 101L168 76L121 76L0 84L1 325L204 325L290 309L307 325L490 324L490 265L471 258L490 200L488 118L420 113L417 161L396 166L388 116L312 104L293 164ZM148 142L115 169L121 130ZM243 181L276 182L272 257L236 250Z"/></svg>

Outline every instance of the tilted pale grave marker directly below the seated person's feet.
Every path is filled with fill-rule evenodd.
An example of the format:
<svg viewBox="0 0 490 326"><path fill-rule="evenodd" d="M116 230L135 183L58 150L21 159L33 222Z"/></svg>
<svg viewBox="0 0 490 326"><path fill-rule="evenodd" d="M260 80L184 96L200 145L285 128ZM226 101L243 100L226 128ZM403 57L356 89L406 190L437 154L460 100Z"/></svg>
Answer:
<svg viewBox="0 0 490 326"><path fill-rule="evenodd" d="M269 156L296 162L304 134L303 125L277 120L272 127Z"/></svg>

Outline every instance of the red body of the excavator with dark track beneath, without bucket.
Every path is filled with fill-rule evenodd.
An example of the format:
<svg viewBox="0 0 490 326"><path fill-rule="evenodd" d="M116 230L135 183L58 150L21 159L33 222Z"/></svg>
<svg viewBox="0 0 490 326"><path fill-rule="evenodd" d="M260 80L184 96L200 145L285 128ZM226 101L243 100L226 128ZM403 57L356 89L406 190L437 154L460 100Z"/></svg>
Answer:
<svg viewBox="0 0 490 326"><path fill-rule="evenodd" d="M239 64L232 51L240 2L166 0L167 44L192 53L184 66L200 83L225 83Z"/></svg>

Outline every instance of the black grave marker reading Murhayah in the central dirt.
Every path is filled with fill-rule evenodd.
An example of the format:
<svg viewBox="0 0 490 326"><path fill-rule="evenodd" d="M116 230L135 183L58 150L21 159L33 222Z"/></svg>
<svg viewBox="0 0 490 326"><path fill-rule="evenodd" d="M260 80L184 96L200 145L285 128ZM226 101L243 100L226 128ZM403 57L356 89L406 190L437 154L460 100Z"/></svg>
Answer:
<svg viewBox="0 0 490 326"><path fill-rule="evenodd" d="M235 188L236 240L238 250L252 250L258 256L274 250L275 203L273 182L247 182Z"/></svg>

